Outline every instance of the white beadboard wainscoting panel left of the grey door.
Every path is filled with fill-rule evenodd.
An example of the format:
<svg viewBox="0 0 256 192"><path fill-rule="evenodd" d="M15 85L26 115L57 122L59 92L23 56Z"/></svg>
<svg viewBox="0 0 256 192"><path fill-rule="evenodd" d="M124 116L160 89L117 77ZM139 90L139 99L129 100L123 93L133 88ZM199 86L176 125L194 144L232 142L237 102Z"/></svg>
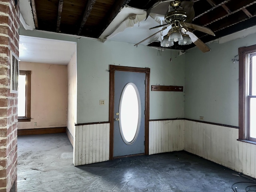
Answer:
<svg viewBox="0 0 256 192"><path fill-rule="evenodd" d="M74 166L109 160L109 122L77 124L74 137Z"/></svg>

